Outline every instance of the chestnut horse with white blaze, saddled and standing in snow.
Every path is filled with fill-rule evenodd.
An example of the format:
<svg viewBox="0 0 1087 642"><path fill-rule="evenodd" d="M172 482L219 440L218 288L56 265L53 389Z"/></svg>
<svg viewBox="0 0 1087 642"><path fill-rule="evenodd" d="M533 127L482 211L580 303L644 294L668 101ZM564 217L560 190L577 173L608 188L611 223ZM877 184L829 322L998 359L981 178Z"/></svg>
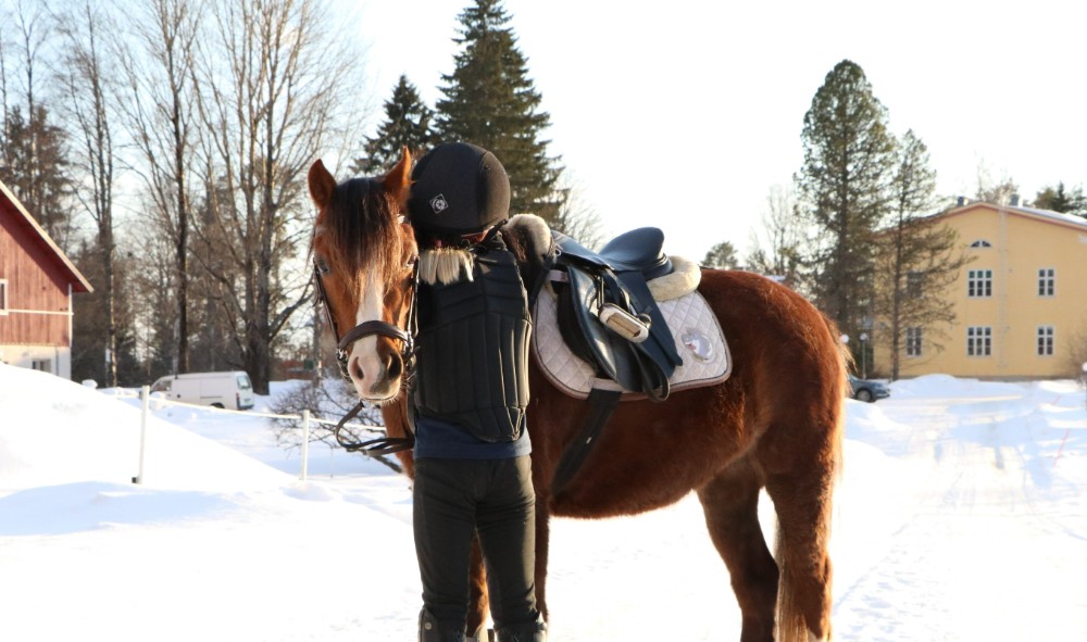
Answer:
<svg viewBox="0 0 1087 642"><path fill-rule="evenodd" d="M342 352L363 401L380 404L390 437L407 436L403 343L417 247L407 197L411 158L385 176L337 185L317 161L313 257L337 338L370 331ZM507 236L515 249L517 239ZM533 282L528 275L525 282ZM704 269L698 290L728 339L730 377L664 402L619 404L596 450L559 495L555 464L587 403L553 388L534 363L528 432L536 484L536 591L547 615L548 518L632 515L698 494L742 613L740 640L830 638L830 501L841 458L846 368L834 325L785 286ZM410 452L398 453L409 475ZM776 556L759 525L765 488L777 517ZM776 561L775 561L776 557ZM470 634L486 620L474 554Z"/></svg>

